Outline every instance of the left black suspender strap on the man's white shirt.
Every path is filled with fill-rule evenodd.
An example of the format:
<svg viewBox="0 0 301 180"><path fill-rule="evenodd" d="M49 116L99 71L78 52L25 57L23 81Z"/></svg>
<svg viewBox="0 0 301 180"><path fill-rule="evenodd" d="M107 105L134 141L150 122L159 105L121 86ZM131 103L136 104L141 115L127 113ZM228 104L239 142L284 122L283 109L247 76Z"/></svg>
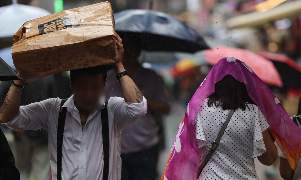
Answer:
<svg viewBox="0 0 301 180"><path fill-rule="evenodd" d="M56 158L56 176L57 180L62 179L62 151L63 151L63 135L64 135L64 127L65 127L65 120L66 120L66 113L67 108L63 107L65 102L68 99L62 99L61 101L61 107L60 107L60 113L59 113L59 119L57 122L57 158ZM61 111L62 109L62 111Z"/></svg>

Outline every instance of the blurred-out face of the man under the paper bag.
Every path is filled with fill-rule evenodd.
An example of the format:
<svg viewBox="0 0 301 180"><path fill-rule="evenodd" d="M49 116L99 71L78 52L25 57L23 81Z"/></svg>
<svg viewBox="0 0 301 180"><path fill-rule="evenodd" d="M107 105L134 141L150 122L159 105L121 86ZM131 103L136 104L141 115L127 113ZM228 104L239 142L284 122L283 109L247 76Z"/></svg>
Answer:
<svg viewBox="0 0 301 180"><path fill-rule="evenodd" d="M70 80L70 85L74 94L74 103L87 112L97 108L106 88L106 82L101 74L78 75L74 82Z"/></svg>

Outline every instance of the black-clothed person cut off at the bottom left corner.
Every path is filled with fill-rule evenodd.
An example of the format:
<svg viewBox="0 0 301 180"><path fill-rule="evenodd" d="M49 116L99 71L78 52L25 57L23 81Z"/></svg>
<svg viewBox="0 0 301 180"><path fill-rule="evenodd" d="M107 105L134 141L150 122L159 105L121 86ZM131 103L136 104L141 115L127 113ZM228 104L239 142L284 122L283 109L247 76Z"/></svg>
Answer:
<svg viewBox="0 0 301 180"><path fill-rule="evenodd" d="M15 165L15 158L7 139L0 129L0 180L20 180L20 173Z"/></svg>

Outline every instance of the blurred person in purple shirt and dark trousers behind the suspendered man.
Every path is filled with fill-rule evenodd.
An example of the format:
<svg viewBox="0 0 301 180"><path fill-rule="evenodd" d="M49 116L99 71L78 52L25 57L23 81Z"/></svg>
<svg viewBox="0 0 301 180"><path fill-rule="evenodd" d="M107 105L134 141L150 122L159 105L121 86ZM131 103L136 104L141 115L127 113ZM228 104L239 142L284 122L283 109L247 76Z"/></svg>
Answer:
<svg viewBox="0 0 301 180"><path fill-rule="evenodd" d="M137 62L140 49L124 41L124 67L129 71L137 87L147 97L148 113L126 126L121 135L121 180L155 180L159 154L161 116L169 113L164 82L154 71L143 68ZM107 98L123 97L114 71L108 73ZM161 144L160 144L161 145Z"/></svg>

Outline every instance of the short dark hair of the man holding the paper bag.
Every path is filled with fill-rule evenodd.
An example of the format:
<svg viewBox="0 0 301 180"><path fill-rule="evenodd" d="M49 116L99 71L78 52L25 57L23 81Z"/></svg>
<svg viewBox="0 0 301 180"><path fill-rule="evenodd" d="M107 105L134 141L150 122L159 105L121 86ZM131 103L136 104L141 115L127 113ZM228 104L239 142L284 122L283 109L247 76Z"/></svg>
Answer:
<svg viewBox="0 0 301 180"><path fill-rule="evenodd" d="M88 67L83 69L71 70L70 71L70 79L72 82L77 78L78 75L97 75L101 74L103 78L103 82L106 83L107 80L107 66L96 66L96 67Z"/></svg>

